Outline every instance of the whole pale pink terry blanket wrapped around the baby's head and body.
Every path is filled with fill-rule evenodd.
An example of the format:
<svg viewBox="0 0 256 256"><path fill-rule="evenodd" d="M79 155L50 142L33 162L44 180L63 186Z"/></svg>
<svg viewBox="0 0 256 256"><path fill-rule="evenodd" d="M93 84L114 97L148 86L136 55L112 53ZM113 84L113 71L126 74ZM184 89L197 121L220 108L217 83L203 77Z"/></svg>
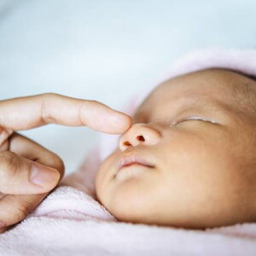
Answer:
<svg viewBox="0 0 256 256"><path fill-rule="evenodd" d="M177 61L160 82L208 67L256 76L256 50L201 50ZM132 115L157 85L140 90L122 111ZM184 230L114 218L96 201L94 180L118 140L116 135L102 135L77 172L65 177L34 212L0 236L0 255L256 255L256 224Z"/></svg>

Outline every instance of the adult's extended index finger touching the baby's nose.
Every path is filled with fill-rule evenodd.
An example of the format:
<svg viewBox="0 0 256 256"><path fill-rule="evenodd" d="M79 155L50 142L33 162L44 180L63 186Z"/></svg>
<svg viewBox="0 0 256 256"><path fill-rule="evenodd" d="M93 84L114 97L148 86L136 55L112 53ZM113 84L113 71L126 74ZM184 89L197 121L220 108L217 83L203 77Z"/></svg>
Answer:
<svg viewBox="0 0 256 256"><path fill-rule="evenodd" d="M46 93L0 102L0 125L15 131L47 124L86 125L96 131L122 133L131 117L101 102Z"/></svg>

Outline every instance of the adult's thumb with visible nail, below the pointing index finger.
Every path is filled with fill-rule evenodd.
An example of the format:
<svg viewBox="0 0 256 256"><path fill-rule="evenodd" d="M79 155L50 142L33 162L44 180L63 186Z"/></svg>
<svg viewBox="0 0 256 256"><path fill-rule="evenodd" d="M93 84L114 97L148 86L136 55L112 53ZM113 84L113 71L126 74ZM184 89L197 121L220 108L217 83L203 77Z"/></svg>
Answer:
<svg viewBox="0 0 256 256"><path fill-rule="evenodd" d="M0 191L4 194L42 194L54 189L60 177L54 168L11 151L0 152Z"/></svg>

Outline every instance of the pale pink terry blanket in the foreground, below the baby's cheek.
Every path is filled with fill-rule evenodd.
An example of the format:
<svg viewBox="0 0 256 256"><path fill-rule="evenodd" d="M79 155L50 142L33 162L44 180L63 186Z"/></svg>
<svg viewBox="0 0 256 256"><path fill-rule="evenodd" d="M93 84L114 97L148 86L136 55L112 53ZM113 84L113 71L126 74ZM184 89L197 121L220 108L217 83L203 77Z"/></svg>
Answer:
<svg viewBox="0 0 256 256"><path fill-rule="evenodd" d="M83 191L55 189L14 229L0 236L1 256L253 256L256 225L184 230L117 221Z"/></svg>

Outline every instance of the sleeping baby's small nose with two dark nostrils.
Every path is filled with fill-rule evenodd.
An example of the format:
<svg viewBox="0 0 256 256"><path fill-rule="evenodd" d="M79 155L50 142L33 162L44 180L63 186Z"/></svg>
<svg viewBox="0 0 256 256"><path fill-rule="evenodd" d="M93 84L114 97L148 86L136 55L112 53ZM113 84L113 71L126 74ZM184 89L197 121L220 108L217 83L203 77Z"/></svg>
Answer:
<svg viewBox="0 0 256 256"><path fill-rule="evenodd" d="M138 144L154 145L160 141L160 131L146 124L135 124L119 139L119 148L124 151L128 147L136 147Z"/></svg>

